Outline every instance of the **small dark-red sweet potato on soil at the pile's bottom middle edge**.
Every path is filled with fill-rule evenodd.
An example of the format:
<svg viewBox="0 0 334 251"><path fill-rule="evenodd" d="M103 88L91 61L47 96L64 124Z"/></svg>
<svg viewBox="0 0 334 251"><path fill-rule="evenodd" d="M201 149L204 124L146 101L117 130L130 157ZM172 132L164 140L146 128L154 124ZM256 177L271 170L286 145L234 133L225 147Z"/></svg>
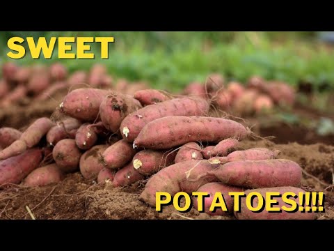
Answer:
<svg viewBox="0 0 334 251"><path fill-rule="evenodd" d="M136 181L141 181L145 178L143 174L139 174L139 172L134 169L132 162L127 164L122 169L119 169L115 177L113 177L113 186L125 186L125 185L131 185L132 183L135 183Z"/></svg>

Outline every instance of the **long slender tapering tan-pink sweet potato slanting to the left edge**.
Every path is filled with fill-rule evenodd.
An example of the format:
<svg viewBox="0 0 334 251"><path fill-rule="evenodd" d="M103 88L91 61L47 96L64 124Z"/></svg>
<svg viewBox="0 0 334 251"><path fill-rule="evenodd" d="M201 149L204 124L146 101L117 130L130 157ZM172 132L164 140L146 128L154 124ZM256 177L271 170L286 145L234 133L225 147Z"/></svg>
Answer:
<svg viewBox="0 0 334 251"><path fill-rule="evenodd" d="M0 151L0 160L18 155L26 149L36 146L52 126L54 123L47 117L36 119L31 126L26 128L19 139Z"/></svg>

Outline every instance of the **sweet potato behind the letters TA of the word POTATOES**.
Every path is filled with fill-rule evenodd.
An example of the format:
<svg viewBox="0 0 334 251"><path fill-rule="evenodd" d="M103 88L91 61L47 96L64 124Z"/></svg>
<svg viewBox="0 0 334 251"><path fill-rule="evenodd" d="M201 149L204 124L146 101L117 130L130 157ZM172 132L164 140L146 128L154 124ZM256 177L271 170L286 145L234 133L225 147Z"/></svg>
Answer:
<svg viewBox="0 0 334 251"><path fill-rule="evenodd" d="M208 215L229 215L233 213L234 199L228 195L229 192L242 192L242 188L225 185L219 182L212 182L202 185L196 192L207 192L209 197L203 199L203 209ZM217 208L216 211L210 211L210 206L214 201L216 192L221 192L223 195L226 208L228 211L223 211L222 208ZM198 210L198 197L193 197L193 208Z"/></svg>

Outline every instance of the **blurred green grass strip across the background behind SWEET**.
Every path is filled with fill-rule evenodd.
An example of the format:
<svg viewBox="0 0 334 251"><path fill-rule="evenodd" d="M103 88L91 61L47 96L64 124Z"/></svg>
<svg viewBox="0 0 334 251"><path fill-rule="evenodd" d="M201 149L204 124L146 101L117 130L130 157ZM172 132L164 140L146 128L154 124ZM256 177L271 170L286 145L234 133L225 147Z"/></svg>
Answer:
<svg viewBox="0 0 334 251"><path fill-rule="evenodd" d="M178 91L191 81L205 81L212 72L246 82L251 75L279 79L296 86L310 82L317 90L328 84L334 90L333 48L317 41L314 32L102 32L51 31L3 32L0 63L8 61L6 41L11 36L114 36L109 59L99 59L100 47L92 45L95 59L64 60L70 71L88 70L104 63L115 77L146 80L154 88ZM29 55L16 62L52 63Z"/></svg>

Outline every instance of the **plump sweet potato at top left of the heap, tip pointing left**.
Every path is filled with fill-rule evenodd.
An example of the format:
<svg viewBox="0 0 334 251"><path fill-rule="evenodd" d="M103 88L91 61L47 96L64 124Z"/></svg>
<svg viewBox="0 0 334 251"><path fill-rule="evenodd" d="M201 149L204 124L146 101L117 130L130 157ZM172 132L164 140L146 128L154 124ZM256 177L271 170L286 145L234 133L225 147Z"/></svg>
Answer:
<svg viewBox="0 0 334 251"><path fill-rule="evenodd" d="M94 121L98 118L100 105L108 94L109 91L102 89L76 89L65 96L59 107L75 119Z"/></svg>

